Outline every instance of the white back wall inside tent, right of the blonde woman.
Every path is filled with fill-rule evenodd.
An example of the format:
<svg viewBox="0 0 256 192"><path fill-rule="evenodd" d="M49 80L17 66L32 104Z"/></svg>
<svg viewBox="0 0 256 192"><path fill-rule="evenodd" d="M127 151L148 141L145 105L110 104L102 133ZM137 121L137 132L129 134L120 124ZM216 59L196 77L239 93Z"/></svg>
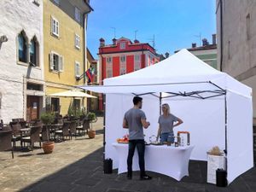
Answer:
<svg viewBox="0 0 256 192"><path fill-rule="evenodd" d="M224 150L224 96L205 100L179 97L164 102L169 104L171 113L183 119L182 125L174 127L174 135L177 131L190 132L190 144L195 146L191 160L207 160L207 151L214 146Z"/></svg>

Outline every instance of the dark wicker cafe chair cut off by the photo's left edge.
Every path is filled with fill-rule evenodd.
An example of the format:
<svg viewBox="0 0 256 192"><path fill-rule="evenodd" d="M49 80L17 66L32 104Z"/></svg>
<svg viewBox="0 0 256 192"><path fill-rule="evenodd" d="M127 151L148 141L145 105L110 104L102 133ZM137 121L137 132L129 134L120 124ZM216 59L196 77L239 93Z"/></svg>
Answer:
<svg viewBox="0 0 256 192"><path fill-rule="evenodd" d="M12 146L12 130L0 131L0 151L6 151L11 149L12 158L14 159L14 149Z"/></svg>

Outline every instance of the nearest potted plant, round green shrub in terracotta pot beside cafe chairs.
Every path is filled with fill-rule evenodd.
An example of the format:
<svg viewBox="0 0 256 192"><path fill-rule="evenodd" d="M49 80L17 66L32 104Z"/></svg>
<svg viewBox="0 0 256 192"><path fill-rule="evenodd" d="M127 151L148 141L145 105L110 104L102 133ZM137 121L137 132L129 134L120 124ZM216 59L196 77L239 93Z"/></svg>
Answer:
<svg viewBox="0 0 256 192"><path fill-rule="evenodd" d="M48 126L55 120L54 113L42 113L40 119L42 120L43 124L45 125L47 141L43 143L43 150L44 154L50 154L55 147L54 142L49 141L49 129Z"/></svg>

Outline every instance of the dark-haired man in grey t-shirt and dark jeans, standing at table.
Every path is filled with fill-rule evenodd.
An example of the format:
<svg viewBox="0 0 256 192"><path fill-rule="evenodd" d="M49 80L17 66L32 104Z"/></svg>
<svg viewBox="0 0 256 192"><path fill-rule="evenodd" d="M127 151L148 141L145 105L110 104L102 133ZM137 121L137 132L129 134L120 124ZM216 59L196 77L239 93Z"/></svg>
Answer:
<svg viewBox="0 0 256 192"><path fill-rule="evenodd" d="M125 117L123 120L123 128L129 129L127 177L128 179L132 178L132 158L134 155L135 148L137 148L139 166L141 170L141 179L148 180L148 179L151 179L151 177L146 175L146 172L145 172L145 161L144 161L145 142L144 142L144 135L143 135L143 127L147 129L150 123L146 121L146 115L141 110L141 108L143 107L143 98L140 96L134 96L133 104L134 104L134 107L129 109L125 113Z"/></svg>

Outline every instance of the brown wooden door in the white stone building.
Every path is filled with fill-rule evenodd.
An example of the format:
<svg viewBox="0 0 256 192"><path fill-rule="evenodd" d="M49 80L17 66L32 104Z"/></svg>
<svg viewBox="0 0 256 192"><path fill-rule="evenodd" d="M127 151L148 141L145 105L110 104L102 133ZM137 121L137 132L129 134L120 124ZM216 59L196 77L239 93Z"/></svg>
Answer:
<svg viewBox="0 0 256 192"><path fill-rule="evenodd" d="M39 96L26 96L26 120L39 118Z"/></svg>

